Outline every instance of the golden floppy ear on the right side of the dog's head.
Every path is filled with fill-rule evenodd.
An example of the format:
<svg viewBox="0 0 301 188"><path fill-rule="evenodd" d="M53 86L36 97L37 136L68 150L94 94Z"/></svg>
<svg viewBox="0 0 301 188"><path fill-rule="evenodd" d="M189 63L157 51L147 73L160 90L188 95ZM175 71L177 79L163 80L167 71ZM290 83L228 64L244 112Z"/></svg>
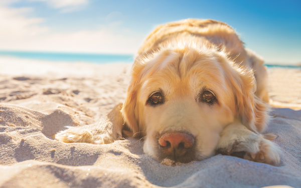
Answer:
<svg viewBox="0 0 301 188"><path fill-rule="evenodd" d="M234 77L234 95L237 112L248 129L261 132L268 121L268 104L262 102L256 95L256 81L252 71L234 67L238 77Z"/></svg>

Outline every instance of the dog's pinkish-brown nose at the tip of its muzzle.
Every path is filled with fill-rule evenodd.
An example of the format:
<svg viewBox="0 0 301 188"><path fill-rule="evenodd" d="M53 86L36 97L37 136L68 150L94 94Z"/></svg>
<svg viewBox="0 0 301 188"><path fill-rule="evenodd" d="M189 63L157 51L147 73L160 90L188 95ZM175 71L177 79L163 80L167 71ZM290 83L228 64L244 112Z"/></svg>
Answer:
<svg viewBox="0 0 301 188"><path fill-rule="evenodd" d="M185 132L167 132L159 136L159 145L163 151L163 156L180 162L190 162L192 147L194 146L194 136Z"/></svg>

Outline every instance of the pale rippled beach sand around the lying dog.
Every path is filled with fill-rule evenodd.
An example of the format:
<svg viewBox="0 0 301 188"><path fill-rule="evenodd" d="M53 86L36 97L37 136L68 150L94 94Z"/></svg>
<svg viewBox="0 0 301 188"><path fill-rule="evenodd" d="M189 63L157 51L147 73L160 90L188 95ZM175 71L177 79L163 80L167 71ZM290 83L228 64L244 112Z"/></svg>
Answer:
<svg viewBox="0 0 301 188"><path fill-rule="evenodd" d="M96 122L123 102L131 64L0 58L0 187L301 187L301 69L269 69L281 163L216 155L170 166L145 155L143 140L63 143L66 126Z"/></svg>

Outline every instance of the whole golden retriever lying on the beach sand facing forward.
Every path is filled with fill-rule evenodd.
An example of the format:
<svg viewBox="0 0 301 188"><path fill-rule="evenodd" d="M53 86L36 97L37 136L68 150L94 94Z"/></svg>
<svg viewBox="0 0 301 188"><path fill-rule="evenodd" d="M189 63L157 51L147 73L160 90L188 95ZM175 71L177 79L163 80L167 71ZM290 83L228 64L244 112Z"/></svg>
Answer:
<svg viewBox="0 0 301 188"><path fill-rule="evenodd" d="M277 164L263 60L223 22L187 19L158 26L134 59L123 104L92 125L55 135L63 142L112 143L144 137L158 161L187 163L217 152ZM124 134L130 134L124 130Z"/></svg>

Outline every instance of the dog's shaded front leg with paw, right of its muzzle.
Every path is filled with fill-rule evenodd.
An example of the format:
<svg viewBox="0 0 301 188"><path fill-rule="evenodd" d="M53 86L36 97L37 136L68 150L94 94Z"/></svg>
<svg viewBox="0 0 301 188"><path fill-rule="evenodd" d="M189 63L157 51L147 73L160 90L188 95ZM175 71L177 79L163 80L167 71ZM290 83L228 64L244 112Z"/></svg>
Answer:
<svg viewBox="0 0 301 188"><path fill-rule="evenodd" d="M245 152L244 159L268 164L280 162L279 148L270 140L276 138L275 134L256 134L240 122L235 122L220 134L216 150L231 155L234 152Z"/></svg>

